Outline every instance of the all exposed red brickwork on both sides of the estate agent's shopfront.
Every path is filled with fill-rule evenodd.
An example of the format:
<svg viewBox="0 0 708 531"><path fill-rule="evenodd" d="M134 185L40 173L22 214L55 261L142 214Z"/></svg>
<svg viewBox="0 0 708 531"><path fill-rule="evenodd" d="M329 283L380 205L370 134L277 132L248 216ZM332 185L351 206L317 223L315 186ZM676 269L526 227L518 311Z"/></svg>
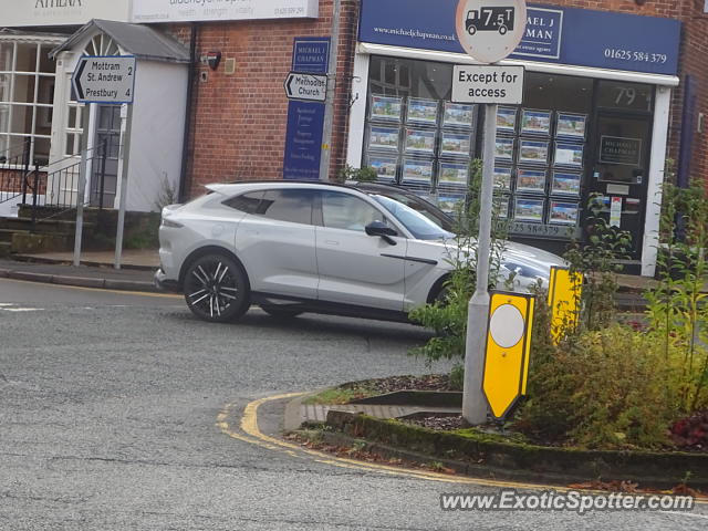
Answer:
<svg viewBox="0 0 708 531"><path fill-rule="evenodd" d="M540 3L667 17L685 23L681 44L681 80L696 76L698 112L708 114L708 17L704 0L541 0ZM325 37L331 31L332 0L320 0L317 20L246 21L199 23L197 56L210 50L222 52L221 64L211 71L199 64L194 84L191 131L188 139L188 189L201 191L206 183L235 179L282 178L288 100L283 80L290 71L294 37ZM337 62L337 91L332 142L334 176L346 159L346 128L351 74L356 40L358 0L342 0L342 33ZM184 42L189 25L171 31ZM226 60L236 59L236 73L225 73ZM200 81L206 73L206 82ZM680 142L683 91L674 92L669 132L670 156L677 158ZM708 150L705 134L696 135L693 173L706 178Z"/></svg>

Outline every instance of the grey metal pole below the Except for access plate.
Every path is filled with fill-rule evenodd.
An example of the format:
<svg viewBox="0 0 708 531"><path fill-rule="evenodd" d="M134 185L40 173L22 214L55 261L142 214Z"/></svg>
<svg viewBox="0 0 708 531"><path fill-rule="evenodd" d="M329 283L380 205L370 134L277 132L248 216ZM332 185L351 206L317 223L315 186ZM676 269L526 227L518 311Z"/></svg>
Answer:
<svg viewBox="0 0 708 531"><path fill-rule="evenodd" d="M472 425L487 420L487 399L482 391L482 369L489 315L489 258L491 254L491 223L494 187L494 139L497 137L497 104L485 105L485 147L482 187L479 205L479 237L477 239L477 285L467 313L465 346L465 393L462 417Z"/></svg>

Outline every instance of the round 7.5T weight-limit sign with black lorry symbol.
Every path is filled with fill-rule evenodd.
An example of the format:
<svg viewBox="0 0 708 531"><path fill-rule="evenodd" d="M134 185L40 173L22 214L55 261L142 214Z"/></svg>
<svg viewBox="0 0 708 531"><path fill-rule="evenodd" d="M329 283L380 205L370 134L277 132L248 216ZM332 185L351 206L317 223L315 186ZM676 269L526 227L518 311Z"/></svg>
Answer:
<svg viewBox="0 0 708 531"><path fill-rule="evenodd" d="M496 63L511 54L527 27L524 0L459 0L457 38L468 55Z"/></svg>

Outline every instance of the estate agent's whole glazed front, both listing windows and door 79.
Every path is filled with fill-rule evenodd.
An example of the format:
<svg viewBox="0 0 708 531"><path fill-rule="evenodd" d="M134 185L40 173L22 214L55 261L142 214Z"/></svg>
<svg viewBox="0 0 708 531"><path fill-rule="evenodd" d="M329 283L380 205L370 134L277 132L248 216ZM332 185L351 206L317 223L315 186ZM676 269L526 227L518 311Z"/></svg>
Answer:
<svg viewBox="0 0 708 531"><path fill-rule="evenodd" d="M589 196L600 192L608 221L641 242L652 90L527 73L523 105L500 106L497 115L494 180L512 236L580 237ZM481 143L477 106L454 104L450 96L450 64L371 60L363 163L378 180L434 197L447 211L464 197ZM627 197L622 217L610 219L616 192Z"/></svg>

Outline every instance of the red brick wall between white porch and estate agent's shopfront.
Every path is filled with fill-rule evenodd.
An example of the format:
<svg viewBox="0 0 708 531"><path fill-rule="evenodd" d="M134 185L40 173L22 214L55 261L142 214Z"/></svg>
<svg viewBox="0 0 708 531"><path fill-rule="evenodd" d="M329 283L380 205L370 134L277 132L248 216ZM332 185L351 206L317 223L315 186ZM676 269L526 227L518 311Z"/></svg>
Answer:
<svg viewBox="0 0 708 531"><path fill-rule="evenodd" d="M348 94L358 1L342 0L334 133L333 176L346 158ZM332 0L320 1L317 20L243 21L198 24L197 58L210 50L222 53L217 71L199 64L195 79L188 142L190 194L206 183L282 178L288 118L283 81L290 72L295 37L327 37ZM188 43L189 27L171 28ZM236 73L227 75L227 59L236 59ZM201 75L207 81L201 81Z"/></svg>

